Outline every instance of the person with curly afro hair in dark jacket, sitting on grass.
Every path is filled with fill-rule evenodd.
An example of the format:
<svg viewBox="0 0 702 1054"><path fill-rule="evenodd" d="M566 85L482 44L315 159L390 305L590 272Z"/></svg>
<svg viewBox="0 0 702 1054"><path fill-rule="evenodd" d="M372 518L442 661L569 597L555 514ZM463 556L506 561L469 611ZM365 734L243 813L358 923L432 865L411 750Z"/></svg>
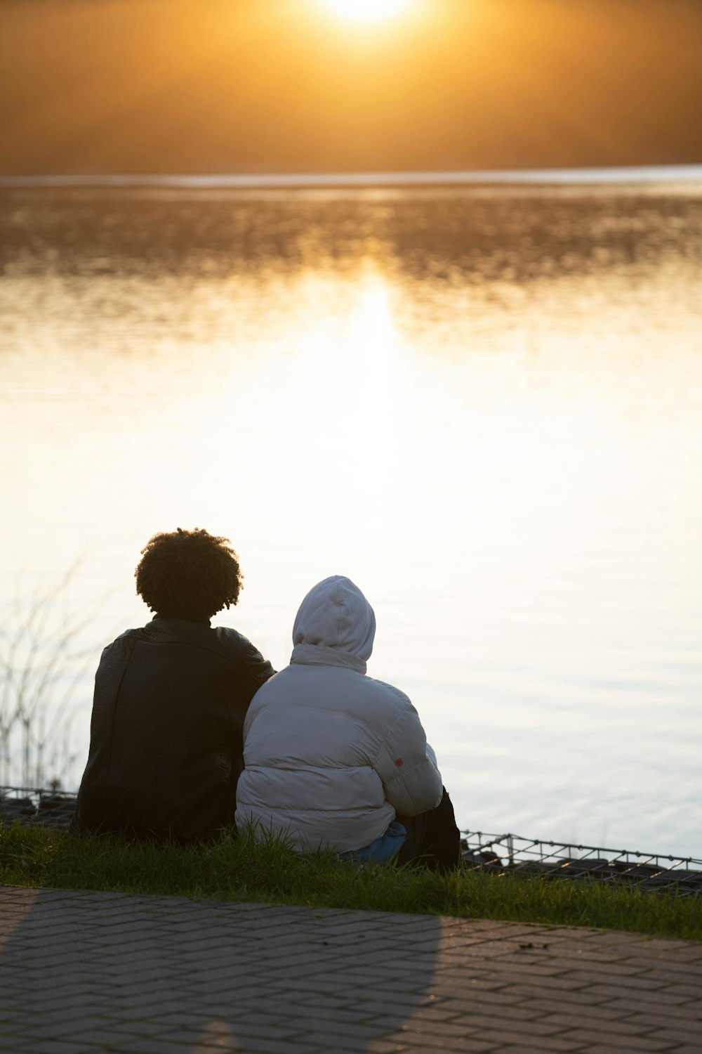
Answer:
<svg viewBox="0 0 702 1054"><path fill-rule="evenodd" d="M74 825L210 839L234 824L244 718L274 669L236 629L209 624L239 599L228 539L154 534L135 575L154 618L102 652Z"/></svg>

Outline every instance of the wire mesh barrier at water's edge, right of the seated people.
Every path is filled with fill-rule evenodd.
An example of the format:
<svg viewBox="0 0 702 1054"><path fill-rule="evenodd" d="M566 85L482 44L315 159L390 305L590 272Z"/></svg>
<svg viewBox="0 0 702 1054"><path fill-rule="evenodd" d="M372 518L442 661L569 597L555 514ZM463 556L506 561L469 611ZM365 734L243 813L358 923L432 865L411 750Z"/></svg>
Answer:
<svg viewBox="0 0 702 1054"><path fill-rule="evenodd" d="M519 835L464 831L461 859L468 871L494 875L598 879L640 890L691 896L702 893L702 860L694 857L606 850L596 845L542 841Z"/></svg>

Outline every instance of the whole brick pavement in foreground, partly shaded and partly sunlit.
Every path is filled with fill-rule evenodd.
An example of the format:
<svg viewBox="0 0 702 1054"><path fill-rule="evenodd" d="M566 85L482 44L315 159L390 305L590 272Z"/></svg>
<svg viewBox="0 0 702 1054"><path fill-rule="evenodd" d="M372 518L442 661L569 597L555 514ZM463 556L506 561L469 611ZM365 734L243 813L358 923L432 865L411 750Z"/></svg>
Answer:
<svg viewBox="0 0 702 1054"><path fill-rule="evenodd" d="M702 1054L702 944L0 889L2 1054Z"/></svg>

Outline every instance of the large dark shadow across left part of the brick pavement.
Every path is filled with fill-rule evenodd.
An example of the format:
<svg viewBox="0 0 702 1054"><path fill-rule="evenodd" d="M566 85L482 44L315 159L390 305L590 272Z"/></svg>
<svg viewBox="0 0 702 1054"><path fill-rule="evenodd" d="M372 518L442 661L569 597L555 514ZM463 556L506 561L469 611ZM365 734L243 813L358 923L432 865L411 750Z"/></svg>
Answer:
<svg viewBox="0 0 702 1054"><path fill-rule="evenodd" d="M426 916L5 890L0 1049L392 1050L430 1003Z"/></svg>

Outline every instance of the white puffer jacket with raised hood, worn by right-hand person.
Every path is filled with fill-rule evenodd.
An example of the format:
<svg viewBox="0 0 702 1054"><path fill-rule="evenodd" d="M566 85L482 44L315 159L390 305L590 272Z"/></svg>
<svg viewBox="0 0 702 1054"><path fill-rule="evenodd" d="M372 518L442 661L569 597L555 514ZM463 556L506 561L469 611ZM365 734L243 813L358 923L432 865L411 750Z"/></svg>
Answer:
<svg viewBox="0 0 702 1054"><path fill-rule="evenodd" d="M257 691L244 722L236 822L286 834L298 850L361 848L396 813L441 800L441 774L407 697L365 676L376 619L354 583L309 590L290 665Z"/></svg>

